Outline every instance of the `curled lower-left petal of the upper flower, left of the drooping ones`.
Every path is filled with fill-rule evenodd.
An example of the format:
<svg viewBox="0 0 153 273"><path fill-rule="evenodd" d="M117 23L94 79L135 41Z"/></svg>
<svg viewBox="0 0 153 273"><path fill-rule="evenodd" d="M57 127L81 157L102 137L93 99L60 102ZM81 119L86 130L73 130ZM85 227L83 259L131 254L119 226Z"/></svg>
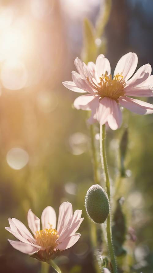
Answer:
<svg viewBox="0 0 153 273"><path fill-rule="evenodd" d="M92 95L83 95L75 99L74 107L82 110L92 110L98 106L99 96L94 97Z"/></svg>

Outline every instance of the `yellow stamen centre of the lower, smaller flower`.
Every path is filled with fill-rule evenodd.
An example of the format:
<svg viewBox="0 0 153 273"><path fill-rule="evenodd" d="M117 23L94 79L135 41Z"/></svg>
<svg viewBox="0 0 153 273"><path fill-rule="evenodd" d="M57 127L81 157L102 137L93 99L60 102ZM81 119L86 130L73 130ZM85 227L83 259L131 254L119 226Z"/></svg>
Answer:
<svg viewBox="0 0 153 273"><path fill-rule="evenodd" d="M50 253L54 253L54 248L56 248L58 245L56 242L59 237L57 230L53 228L46 228L36 231L35 233L35 239L37 240L38 245L48 249Z"/></svg>

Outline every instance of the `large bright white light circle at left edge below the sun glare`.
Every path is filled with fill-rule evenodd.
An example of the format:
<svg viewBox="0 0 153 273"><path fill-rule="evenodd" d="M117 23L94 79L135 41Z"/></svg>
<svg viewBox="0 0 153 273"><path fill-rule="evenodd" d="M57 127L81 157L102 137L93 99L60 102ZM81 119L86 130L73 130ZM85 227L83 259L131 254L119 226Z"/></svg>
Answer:
<svg viewBox="0 0 153 273"><path fill-rule="evenodd" d="M27 69L19 60L8 60L2 65L2 85L10 90L24 88L27 82Z"/></svg>

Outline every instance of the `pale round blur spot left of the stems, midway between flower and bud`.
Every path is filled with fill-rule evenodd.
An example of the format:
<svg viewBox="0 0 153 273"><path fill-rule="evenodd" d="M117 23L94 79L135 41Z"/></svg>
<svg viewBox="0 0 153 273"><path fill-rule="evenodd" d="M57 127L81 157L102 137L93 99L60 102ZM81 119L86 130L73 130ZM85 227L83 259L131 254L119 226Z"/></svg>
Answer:
<svg viewBox="0 0 153 273"><path fill-rule="evenodd" d="M79 132L74 133L69 137L69 146L72 154L83 154L88 149L88 136Z"/></svg>

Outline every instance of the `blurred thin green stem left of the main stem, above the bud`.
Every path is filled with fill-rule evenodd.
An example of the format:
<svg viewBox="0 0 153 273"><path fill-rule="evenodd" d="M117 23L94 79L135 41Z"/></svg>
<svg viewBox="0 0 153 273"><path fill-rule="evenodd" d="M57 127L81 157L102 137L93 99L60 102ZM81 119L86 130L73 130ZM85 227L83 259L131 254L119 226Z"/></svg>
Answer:
<svg viewBox="0 0 153 273"><path fill-rule="evenodd" d="M98 161L97 161L97 153L95 148L95 134L94 134L93 125L90 125L90 135L91 135L91 148L92 148L93 167L94 167L94 181L96 184L99 184Z"/></svg>

